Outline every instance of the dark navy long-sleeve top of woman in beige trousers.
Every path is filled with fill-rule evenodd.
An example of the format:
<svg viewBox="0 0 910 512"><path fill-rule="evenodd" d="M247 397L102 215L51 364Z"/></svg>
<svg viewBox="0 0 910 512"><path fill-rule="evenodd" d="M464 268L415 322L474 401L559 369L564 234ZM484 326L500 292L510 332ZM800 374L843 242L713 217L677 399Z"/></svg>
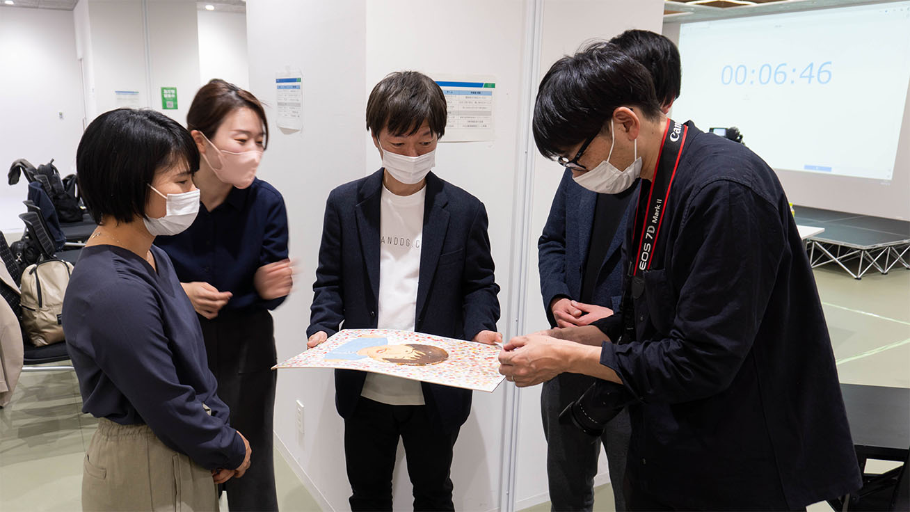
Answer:
<svg viewBox="0 0 910 512"><path fill-rule="evenodd" d="M196 312L165 252L151 251L157 272L121 247L82 249L63 304L82 410L121 425L145 423L200 466L233 469L246 447L227 425Z"/></svg>

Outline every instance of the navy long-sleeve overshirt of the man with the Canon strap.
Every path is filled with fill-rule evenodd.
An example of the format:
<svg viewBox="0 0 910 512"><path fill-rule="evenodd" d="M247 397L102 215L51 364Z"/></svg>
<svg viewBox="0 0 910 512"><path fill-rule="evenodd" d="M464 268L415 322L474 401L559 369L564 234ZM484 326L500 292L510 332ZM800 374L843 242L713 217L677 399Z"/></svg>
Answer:
<svg viewBox="0 0 910 512"><path fill-rule="evenodd" d="M631 404L627 475L701 510L843 496L860 475L784 189L745 146L687 125L643 293L595 323L616 340L634 315L636 340L604 343L601 356ZM630 226L632 260L637 244Z"/></svg>

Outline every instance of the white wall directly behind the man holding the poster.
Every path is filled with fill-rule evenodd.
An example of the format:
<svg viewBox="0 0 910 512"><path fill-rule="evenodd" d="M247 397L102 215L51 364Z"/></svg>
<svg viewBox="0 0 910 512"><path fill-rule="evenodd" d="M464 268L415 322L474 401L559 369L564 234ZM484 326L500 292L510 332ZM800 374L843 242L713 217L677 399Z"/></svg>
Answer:
<svg viewBox="0 0 910 512"><path fill-rule="evenodd" d="M303 122L300 132L280 132L272 140L260 176L285 195L292 258L298 264L297 288L276 313L278 357L304 349L310 285L314 278L325 198L341 183L379 167L379 157L365 129L369 89L387 73L416 69L429 75L494 75L497 83L496 139L488 143L440 144L437 172L480 197L490 214L490 239L507 335L545 325L536 271L536 239L561 176L555 164L541 161L532 170L531 252L512 256L515 233L525 216L516 204L525 186L517 168L526 147L521 119L531 109L532 91L522 90L528 70L524 57L528 0L497 3L465 0L458 8L417 0L347 0L326 5L316 0L273 0L247 6L250 90L275 103L274 78L286 67L303 73ZM552 61L573 52L582 40L609 37L632 26L659 30L662 2L545 2L541 75ZM444 21L444 23L442 23ZM305 51L319 48L318 52ZM539 76L534 77L533 88ZM269 109L274 117L274 110ZM445 139L443 138L443 141ZM511 191L511 193L509 192ZM530 266L527 277L511 282L516 266ZM520 272L518 274L521 274ZM527 304L524 325L514 325L510 297ZM511 326L511 327L510 327ZM297 462L299 474L323 507L348 507L349 484L343 459L343 424L334 407L331 372L284 371L278 377L276 437ZM475 393L468 423L462 428L452 479L460 509L498 508L506 487L501 457L507 450L503 385L493 395ZM539 412L540 389L523 392L518 458L519 507L547 498L545 447ZM295 427L295 400L305 406L304 434ZM399 453L400 457L400 453ZM399 459L400 463L400 459ZM401 465L399 464L399 469ZM541 494L542 493L542 494ZM410 507L404 471L395 477L396 508Z"/></svg>

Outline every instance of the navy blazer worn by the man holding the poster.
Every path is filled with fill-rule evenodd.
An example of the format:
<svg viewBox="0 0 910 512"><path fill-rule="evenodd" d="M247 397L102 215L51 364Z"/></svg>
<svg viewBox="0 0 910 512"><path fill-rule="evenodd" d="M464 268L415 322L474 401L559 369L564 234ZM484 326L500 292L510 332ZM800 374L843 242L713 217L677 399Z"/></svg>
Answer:
<svg viewBox="0 0 910 512"><path fill-rule="evenodd" d="M307 336L344 328L376 328L379 305L379 214L383 170L329 194L313 284ZM427 175L423 246L415 330L470 340L496 330L500 291L493 278L487 210L483 203L436 175ZM341 417L357 406L365 372L335 370ZM467 389L422 383L430 414L446 431L470 414Z"/></svg>

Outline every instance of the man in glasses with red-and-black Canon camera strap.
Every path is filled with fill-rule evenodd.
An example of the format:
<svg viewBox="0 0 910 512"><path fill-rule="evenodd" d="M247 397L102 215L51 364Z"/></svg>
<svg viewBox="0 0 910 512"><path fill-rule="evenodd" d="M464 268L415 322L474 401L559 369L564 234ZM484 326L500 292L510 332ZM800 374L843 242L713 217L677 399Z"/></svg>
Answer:
<svg viewBox="0 0 910 512"><path fill-rule="evenodd" d="M804 510L861 487L812 268L773 169L664 115L647 69L616 45L551 66L533 131L583 186L618 194L640 176L641 190L620 312L511 339L501 373L521 387L600 379L598 400L571 409L592 434L627 407L630 510Z"/></svg>

